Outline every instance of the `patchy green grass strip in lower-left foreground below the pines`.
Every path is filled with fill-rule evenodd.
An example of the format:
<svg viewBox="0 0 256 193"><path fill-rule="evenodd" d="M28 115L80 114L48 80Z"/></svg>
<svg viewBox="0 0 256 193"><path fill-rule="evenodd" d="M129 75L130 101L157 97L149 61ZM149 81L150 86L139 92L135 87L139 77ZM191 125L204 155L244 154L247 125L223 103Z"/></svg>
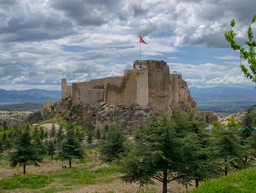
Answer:
<svg viewBox="0 0 256 193"><path fill-rule="evenodd" d="M86 184L110 183L114 178L110 177L117 172L115 164L98 167L96 170L89 170L87 167L77 166L67 169L50 171L46 174L26 174L0 180L0 189L43 188L52 183L62 184L64 188ZM51 190L50 190L51 189ZM51 187L47 192L58 192L60 188Z"/></svg>

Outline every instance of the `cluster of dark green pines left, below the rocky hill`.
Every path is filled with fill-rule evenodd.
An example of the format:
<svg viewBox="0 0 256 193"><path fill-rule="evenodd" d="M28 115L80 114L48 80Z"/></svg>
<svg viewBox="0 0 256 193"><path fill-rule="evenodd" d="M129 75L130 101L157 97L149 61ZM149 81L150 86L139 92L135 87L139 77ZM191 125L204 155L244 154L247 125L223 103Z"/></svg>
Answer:
<svg viewBox="0 0 256 193"><path fill-rule="evenodd" d="M75 130L74 125L67 126L65 131L62 127L56 131L56 127L53 124L48 135L47 130L44 131L42 128L38 130L35 127L31 131L29 124L24 124L14 134L8 134L8 136L11 136L10 140L12 141L10 147L12 151L8 152L8 159L13 167L17 165L23 166L23 173L25 174L26 165L34 164L39 166L45 155L51 155L53 159L53 155L57 151L59 154L56 159L69 160L69 167L71 167L72 159L84 158L80 134L81 132L77 129ZM0 141L0 152L3 152L7 147L7 140L9 138L4 133ZM3 144L5 145L3 146Z"/></svg>

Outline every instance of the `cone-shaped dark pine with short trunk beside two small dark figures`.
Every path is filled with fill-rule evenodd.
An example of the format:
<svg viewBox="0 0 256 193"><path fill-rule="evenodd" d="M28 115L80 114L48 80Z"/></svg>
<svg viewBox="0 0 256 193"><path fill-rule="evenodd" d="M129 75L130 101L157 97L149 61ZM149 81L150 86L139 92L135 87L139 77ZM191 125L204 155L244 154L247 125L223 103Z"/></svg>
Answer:
<svg viewBox="0 0 256 193"><path fill-rule="evenodd" d="M84 150L72 126L67 128L58 158L61 160L69 160L69 167L71 167L71 159L84 158Z"/></svg>

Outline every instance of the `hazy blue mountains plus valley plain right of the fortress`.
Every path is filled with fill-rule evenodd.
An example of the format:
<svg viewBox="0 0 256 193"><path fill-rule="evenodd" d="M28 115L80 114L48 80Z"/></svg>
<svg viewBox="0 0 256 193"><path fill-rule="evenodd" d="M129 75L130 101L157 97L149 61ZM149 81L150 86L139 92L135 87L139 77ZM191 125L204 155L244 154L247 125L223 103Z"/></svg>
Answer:
<svg viewBox="0 0 256 193"><path fill-rule="evenodd" d="M199 111L214 111L218 116L244 112L246 108L256 104L256 89L253 86L191 87L189 90Z"/></svg>

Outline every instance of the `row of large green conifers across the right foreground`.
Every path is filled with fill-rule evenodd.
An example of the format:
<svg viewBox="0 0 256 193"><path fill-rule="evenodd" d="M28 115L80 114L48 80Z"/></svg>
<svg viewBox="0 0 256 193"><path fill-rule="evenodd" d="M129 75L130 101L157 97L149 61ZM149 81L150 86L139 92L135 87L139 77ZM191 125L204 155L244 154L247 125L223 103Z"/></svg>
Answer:
<svg viewBox="0 0 256 193"><path fill-rule="evenodd" d="M161 119L152 115L127 140L118 126L110 126L99 144L103 162L116 161L124 182L141 185L176 180L188 185L251 166L256 158L255 106L246 110L242 126L231 117L227 126L217 121L212 130L192 113L173 112Z"/></svg>

